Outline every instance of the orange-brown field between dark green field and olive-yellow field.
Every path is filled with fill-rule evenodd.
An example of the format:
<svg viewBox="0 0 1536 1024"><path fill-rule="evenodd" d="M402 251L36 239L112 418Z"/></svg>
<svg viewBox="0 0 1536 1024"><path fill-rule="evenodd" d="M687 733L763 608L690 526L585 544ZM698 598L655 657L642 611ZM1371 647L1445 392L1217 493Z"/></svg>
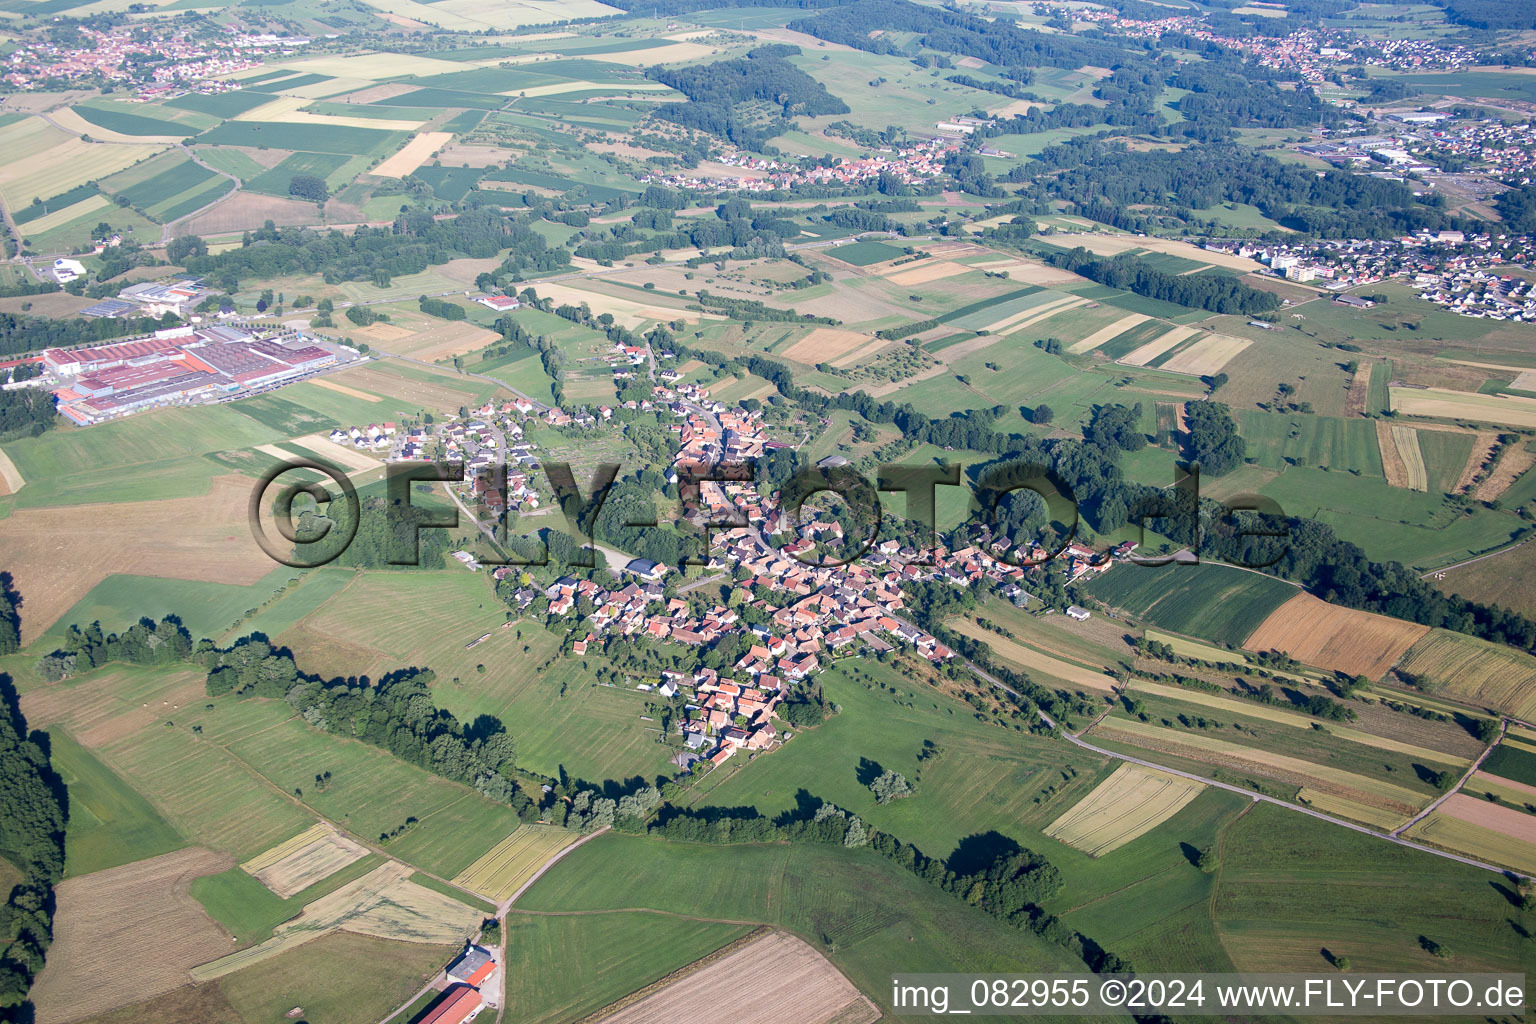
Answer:
<svg viewBox="0 0 1536 1024"><path fill-rule="evenodd" d="M1296 594L1269 613L1243 646L1284 651L1316 668L1381 679L1428 631L1416 622Z"/></svg>

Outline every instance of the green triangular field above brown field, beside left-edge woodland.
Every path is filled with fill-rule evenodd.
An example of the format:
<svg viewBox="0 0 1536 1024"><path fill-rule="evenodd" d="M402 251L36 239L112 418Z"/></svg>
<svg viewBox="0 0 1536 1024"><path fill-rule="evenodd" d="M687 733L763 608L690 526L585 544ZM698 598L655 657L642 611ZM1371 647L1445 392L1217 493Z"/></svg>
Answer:
<svg viewBox="0 0 1536 1024"><path fill-rule="evenodd" d="M68 877L89 875L186 846L186 840L147 800L68 732L49 732L49 748L54 771L69 789L65 831Z"/></svg>

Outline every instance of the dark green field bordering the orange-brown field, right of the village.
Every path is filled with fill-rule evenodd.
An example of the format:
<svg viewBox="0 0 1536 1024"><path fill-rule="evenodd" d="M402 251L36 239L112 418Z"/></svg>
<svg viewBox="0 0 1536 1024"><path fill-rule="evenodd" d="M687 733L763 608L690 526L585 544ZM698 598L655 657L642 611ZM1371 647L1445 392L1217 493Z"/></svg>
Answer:
<svg viewBox="0 0 1536 1024"><path fill-rule="evenodd" d="M1163 629L1241 645L1301 591L1272 576L1203 562L1117 567L1091 582L1087 593Z"/></svg>

